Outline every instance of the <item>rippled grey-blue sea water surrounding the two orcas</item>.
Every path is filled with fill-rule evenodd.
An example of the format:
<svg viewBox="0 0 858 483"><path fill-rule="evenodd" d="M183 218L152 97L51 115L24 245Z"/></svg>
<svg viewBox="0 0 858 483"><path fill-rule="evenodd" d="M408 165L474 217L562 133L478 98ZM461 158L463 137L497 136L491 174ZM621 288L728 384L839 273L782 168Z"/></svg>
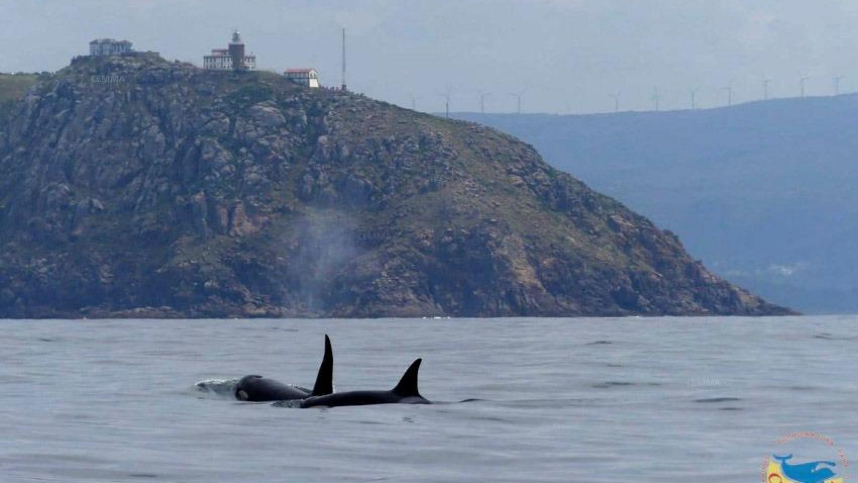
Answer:
<svg viewBox="0 0 858 483"><path fill-rule="evenodd" d="M0 329L3 482L744 483L793 432L858 461L858 317ZM337 390L389 389L422 357L420 392L439 403L299 409L222 394L251 373L311 386L326 333ZM795 462L831 459L808 446Z"/></svg>

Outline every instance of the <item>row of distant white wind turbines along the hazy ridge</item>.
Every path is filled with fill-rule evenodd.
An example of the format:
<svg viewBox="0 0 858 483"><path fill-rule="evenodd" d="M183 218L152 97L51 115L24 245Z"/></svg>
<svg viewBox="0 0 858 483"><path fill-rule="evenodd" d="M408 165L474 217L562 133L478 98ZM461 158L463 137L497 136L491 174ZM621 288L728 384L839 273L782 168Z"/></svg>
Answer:
<svg viewBox="0 0 858 483"><path fill-rule="evenodd" d="M847 77L846 75L837 75L835 77L832 77L833 87L834 87L834 89L833 89L834 95L840 95L841 94L841 92L840 92L841 82L846 77ZM810 79L811 79L811 77L809 77L808 75L805 75L803 73L799 74L798 97L800 97L800 98L807 97L806 84L807 84L807 81L809 81ZM762 80L762 82L761 82L762 95L759 98L760 100L769 100L770 99L770 95L771 95L770 84L771 84L771 82L772 82L772 79L770 79L770 78L764 78ZM700 92L700 90L701 89L699 87L688 88L689 107L691 108L692 111L698 109L697 96L698 96L698 93ZM733 106L733 100L734 100L734 88L733 88L733 86L728 85L726 87L721 88L720 90L724 94L726 94L725 106ZM474 91L471 91L471 92L474 92ZM492 97L494 94L480 90L480 89L477 89L475 92L478 95L479 100L480 100L480 113L485 114L486 113L486 99ZM517 92L507 93L511 98L513 98L516 101L515 112L517 114L522 113L522 99L523 99L524 94L526 94L527 92L528 92L528 88L523 88L522 90L517 91ZM622 100L622 94L623 94L622 91L618 91L618 92L613 93L613 94L607 94L608 98L613 100L613 112L619 112L620 101ZM450 118L450 100L452 99L452 96L453 96L453 89L448 87L444 92L438 93L437 95L444 99L444 113L445 113L447 118ZM409 97L411 99L411 109L413 111L416 111L417 110L417 101L422 99L422 98L420 96L417 96L414 94L411 94ZM655 111L660 111L661 110L662 94L661 94L661 91L659 90L659 88L653 89L653 94L652 94L652 97L650 97L650 100L653 103L653 105L652 105L653 109Z"/></svg>

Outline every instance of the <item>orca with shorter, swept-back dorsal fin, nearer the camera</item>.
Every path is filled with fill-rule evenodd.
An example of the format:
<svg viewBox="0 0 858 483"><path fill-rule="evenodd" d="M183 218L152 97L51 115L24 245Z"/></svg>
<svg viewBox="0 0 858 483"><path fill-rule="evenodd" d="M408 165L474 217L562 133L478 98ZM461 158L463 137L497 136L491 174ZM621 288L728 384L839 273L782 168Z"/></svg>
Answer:
<svg viewBox="0 0 858 483"><path fill-rule="evenodd" d="M416 359L396 387L390 390L356 390L338 392L328 395L311 395L301 401L301 408L325 407L335 408L338 406L364 406L366 404L431 404L425 397L420 395L417 389L417 372L420 370L420 362Z"/></svg>

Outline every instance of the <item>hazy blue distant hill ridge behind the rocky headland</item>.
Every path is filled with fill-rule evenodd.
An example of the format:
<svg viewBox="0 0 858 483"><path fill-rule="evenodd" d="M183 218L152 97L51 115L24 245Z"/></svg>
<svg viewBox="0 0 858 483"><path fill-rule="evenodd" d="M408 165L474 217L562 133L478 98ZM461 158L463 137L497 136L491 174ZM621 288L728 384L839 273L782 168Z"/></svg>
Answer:
<svg viewBox="0 0 858 483"><path fill-rule="evenodd" d="M677 232L717 274L801 311L858 311L858 95L700 111L455 114Z"/></svg>

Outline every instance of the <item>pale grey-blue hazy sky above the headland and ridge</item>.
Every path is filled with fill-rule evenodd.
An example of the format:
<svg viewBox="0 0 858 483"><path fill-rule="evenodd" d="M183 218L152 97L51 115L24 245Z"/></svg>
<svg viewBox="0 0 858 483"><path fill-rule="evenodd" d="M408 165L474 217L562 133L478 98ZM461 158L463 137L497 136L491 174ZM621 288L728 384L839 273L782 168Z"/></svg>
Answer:
<svg viewBox="0 0 858 483"><path fill-rule="evenodd" d="M0 0L0 71L54 71L95 38L202 65L241 31L260 69L314 67L425 112L687 109L858 90L855 0ZM619 101L619 103L618 103Z"/></svg>

